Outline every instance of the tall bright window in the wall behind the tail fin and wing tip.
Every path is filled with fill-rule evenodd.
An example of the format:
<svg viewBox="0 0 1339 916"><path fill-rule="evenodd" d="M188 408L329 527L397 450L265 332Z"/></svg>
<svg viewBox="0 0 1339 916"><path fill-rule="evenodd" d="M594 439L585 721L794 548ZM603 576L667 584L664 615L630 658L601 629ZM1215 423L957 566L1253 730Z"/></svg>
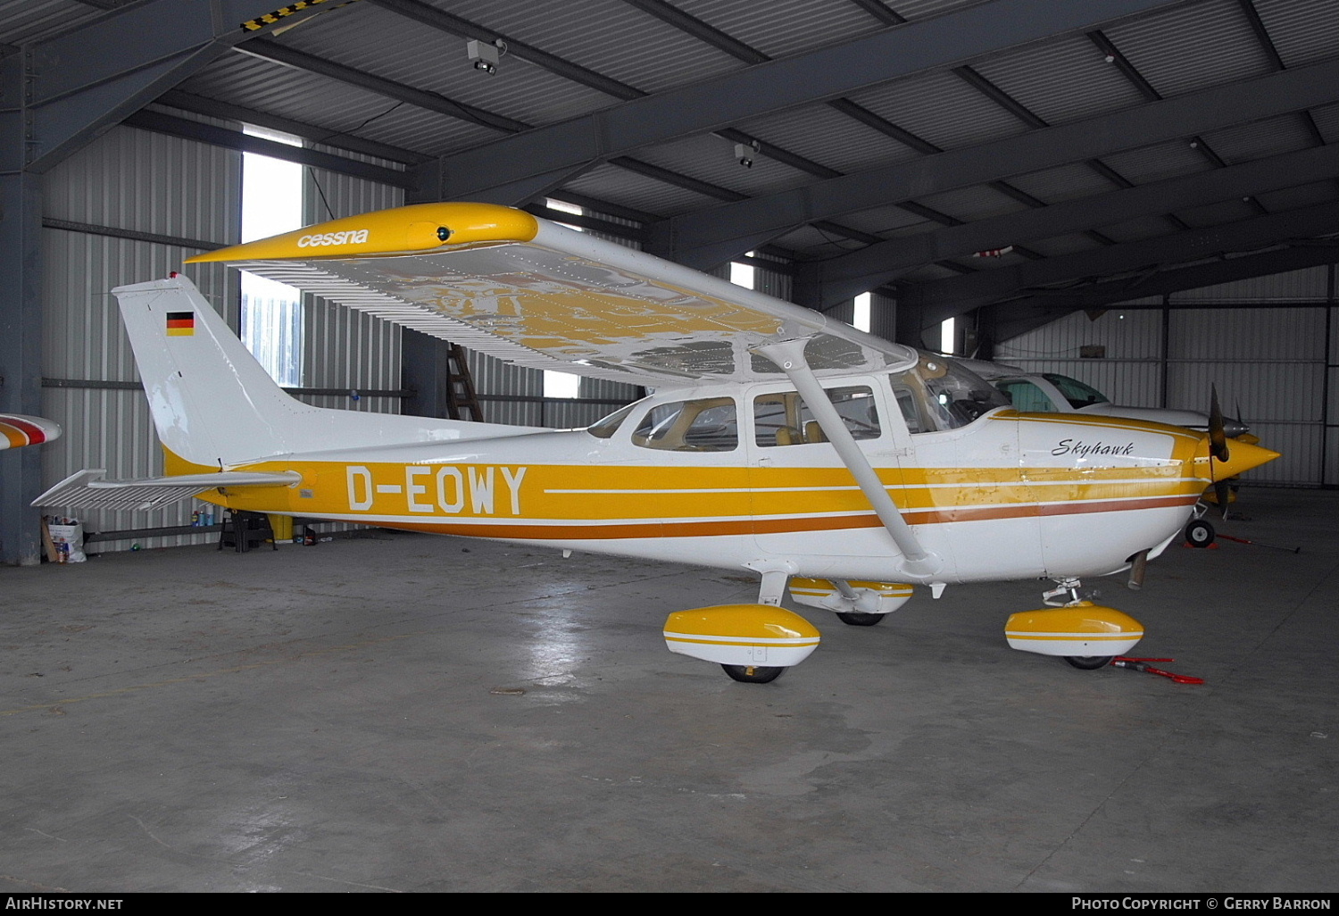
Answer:
<svg viewBox="0 0 1339 916"><path fill-rule="evenodd" d="M301 139L246 125L245 133L279 143ZM256 153L242 154L242 241L303 225L303 166ZM303 296L283 283L242 271L241 339L279 384L303 383Z"/></svg>

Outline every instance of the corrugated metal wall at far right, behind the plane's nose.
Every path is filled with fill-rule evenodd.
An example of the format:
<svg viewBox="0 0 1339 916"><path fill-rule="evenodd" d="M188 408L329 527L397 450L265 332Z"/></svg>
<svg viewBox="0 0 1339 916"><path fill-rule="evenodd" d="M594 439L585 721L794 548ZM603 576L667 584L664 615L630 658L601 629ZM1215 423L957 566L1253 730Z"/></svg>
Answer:
<svg viewBox="0 0 1339 916"><path fill-rule="evenodd" d="M1172 308L1111 305L1075 312L1007 340L996 360L1071 375L1113 402L1208 410L1217 387L1225 414L1283 454L1251 471L1280 485L1339 483L1339 308L1334 268L1312 268L1168 300ZM1212 308L1176 308L1212 303ZM1314 304L1312 304L1314 303ZM1082 346L1106 356L1083 359Z"/></svg>

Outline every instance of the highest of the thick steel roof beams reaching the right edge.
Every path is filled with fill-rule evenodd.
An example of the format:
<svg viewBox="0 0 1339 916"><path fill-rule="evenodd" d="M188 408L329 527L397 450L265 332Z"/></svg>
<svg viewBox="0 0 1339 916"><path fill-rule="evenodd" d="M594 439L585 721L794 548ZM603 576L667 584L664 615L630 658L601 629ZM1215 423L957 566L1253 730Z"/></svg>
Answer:
<svg viewBox="0 0 1339 916"><path fill-rule="evenodd" d="M711 266L815 220L971 187L1339 99L1339 59L1032 130L665 220L664 250Z"/></svg>

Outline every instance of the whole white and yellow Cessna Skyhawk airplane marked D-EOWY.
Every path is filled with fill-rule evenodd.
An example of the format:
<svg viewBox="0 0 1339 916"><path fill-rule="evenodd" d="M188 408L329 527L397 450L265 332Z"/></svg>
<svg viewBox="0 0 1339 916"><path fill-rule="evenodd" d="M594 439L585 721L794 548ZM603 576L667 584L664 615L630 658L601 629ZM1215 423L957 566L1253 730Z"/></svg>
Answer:
<svg viewBox="0 0 1339 916"><path fill-rule="evenodd" d="M818 641L793 600L877 623L913 585L1054 579L1010 641L1079 667L1142 635L1079 601L1276 453L1022 414L969 371L525 212L422 204L226 261L520 366L655 394L585 430L321 410L284 394L183 277L115 289L167 475L80 471L52 506L221 506L750 569L757 604L671 615L675 651L770 680ZM1067 601L1063 599L1069 599ZM1047 616L1054 615L1054 616Z"/></svg>

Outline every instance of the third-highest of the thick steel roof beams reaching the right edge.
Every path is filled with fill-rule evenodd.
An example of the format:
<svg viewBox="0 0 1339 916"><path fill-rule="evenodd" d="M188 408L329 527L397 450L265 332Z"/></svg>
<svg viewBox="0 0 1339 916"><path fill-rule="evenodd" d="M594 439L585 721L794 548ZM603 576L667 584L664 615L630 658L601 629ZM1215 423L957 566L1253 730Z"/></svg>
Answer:
<svg viewBox="0 0 1339 916"><path fill-rule="evenodd" d="M1091 252L977 271L961 277L904 287L901 291L921 307L923 321L929 327L973 308L1028 293L1048 284L1157 269L1166 264L1277 245L1291 238L1339 233L1339 206L1335 204L1327 201L1296 210L1177 232ZM1129 297L1134 299L1138 295L1142 293L1130 293Z"/></svg>

